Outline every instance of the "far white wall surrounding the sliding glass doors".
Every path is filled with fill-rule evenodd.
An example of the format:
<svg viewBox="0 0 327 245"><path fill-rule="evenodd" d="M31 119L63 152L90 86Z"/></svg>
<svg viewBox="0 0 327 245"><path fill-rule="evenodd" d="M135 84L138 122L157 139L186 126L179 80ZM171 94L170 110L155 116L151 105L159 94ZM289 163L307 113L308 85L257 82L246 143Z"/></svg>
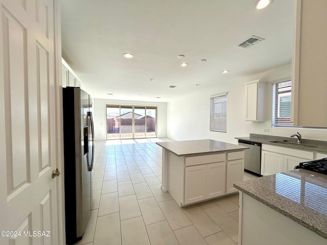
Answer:
<svg viewBox="0 0 327 245"><path fill-rule="evenodd" d="M94 99L95 140L106 140L106 105L156 106L157 136L167 137L167 103Z"/></svg>

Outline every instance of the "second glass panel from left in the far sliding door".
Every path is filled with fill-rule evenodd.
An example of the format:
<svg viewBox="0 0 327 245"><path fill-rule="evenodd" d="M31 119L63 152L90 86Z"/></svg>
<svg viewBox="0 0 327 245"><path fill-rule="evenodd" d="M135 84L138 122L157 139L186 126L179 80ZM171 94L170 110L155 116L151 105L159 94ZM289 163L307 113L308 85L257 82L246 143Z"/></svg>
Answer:
<svg viewBox="0 0 327 245"><path fill-rule="evenodd" d="M121 106L120 115L121 139L133 138L133 107Z"/></svg>

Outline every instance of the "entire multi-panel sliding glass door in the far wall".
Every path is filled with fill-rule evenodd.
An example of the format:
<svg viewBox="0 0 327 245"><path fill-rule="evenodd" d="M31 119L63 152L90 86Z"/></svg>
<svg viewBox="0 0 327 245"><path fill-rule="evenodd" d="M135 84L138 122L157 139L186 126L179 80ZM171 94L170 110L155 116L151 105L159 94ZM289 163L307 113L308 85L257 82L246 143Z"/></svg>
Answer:
<svg viewBox="0 0 327 245"><path fill-rule="evenodd" d="M156 107L107 105L107 139L156 137Z"/></svg>

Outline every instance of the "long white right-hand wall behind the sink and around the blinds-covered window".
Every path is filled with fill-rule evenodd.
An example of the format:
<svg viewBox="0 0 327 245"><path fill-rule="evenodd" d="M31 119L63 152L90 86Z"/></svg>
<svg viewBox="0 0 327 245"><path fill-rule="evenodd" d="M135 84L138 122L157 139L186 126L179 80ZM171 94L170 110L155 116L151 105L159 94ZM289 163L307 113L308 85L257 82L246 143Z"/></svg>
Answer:
<svg viewBox="0 0 327 245"><path fill-rule="evenodd" d="M277 67L260 74L228 78L219 82L219 86L199 90L196 94L181 97L167 104L167 137L175 140L215 139L236 143L235 137L249 136L250 133L289 137L297 131L302 138L327 140L327 129L281 128L271 127L271 82L291 77L291 64ZM245 121L245 85L244 83L261 79L267 81L265 122ZM221 84L222 83L222 84ZM209 131L210 96L228 92L227 95L227 133ZM263 129L269 129L264 133Z"/></svg>

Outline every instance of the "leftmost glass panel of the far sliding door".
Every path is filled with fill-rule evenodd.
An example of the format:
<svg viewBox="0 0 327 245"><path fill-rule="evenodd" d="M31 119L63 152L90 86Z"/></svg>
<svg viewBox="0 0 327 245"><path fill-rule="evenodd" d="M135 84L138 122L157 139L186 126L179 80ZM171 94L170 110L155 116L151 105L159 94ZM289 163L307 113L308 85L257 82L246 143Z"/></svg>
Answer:
<svg viewBox="0 0 327 245"><path fill-rule="evenodd" d="M120 138L120 107L107 106L107 139Z"/></svg>

